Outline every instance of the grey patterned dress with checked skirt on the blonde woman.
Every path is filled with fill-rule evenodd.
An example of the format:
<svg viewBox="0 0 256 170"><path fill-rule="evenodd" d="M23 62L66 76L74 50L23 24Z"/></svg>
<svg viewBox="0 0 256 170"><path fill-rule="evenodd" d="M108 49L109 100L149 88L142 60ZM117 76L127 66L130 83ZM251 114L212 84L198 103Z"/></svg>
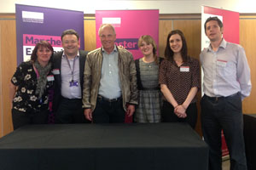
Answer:
<svg viewBox="0 0 256 170"><path fill-rule="evenodd" d="M162 99L160 89L156 89L159 87L159 65L155 62L145 63L143 59L137 62L137 74L140 78L138 78L139 95L134 121L160 122ZM142 85L141 89L139 84Z"/></svg>

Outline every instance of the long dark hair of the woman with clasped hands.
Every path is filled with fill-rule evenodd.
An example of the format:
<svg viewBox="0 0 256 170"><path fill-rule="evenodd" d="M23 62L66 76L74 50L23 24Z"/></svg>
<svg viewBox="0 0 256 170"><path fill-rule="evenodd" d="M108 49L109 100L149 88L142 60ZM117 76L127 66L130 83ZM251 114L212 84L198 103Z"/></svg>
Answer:
<svg viewBox="0 0 256 170"><path fill-rule="evenodd" d="M180 30L173 30L168 34L168 37L167 37L167 40L166 40L165 58L168 59L168 60L174 61L173 60L173 54L174 53L173 53L173 51L170 47L170 42L169 42L170 37L172 37L172 35L174 35L174 34L179 35L182 39L183 48L181 49L181 55L182 55L182 58L183 58L183 62L185 62L185 61L188 60L188 48L187 48L187 42L186 42L186 39L183 35L183 32L180 31Z"/></svg>

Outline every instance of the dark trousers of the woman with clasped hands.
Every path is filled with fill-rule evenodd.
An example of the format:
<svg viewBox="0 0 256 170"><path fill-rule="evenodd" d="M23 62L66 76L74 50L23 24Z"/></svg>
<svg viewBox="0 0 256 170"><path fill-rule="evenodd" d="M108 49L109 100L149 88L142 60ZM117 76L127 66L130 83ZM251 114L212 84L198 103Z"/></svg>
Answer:
<svg viewBox="0 0 256 170"><path fill-rule="evenodd" d="M186 110L187 117L179 118L174 113L173 106L164 101L163 103L163 111L162 111L162 122L187 122L190 127L195 129L196 121L197 121L197 107L196 104L190 104Z"/></svg>

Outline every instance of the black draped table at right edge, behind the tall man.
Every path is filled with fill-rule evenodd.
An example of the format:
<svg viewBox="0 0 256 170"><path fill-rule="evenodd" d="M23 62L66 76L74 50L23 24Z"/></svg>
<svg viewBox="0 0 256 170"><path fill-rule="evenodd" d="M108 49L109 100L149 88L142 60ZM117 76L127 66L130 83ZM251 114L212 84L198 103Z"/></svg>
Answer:
<svg viewBox="0 0 256 170"><path fill-rule="evenodd" d="M256 169L256 114L244 114L244 142L248 170Z"/></svg>

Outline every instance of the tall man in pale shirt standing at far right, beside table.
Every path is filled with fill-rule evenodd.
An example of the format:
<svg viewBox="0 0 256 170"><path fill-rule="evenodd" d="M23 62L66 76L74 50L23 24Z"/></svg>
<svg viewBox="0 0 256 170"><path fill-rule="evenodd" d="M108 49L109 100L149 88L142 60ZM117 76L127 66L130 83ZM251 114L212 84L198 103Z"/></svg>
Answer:
<svg viewBox="0 0 256 170"><path fill-rule="evenodd" d="M221 130L230 151L230 169L246 170L241 100L252 88L250 68L244 49L222 37L223 23L218 17L205 22L211 44L200 55L204 72L201 124L209 145L209 169L222 166Z"/></svg>

